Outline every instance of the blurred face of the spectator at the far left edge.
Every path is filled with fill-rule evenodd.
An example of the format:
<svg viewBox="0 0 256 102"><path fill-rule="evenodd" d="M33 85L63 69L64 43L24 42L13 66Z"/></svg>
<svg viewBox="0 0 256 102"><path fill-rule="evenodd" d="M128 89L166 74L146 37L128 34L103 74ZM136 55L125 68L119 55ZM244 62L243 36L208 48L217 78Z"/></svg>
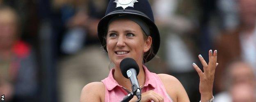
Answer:
<svg viewBox="0 0 256 102"><path fill-rule="evenodd" d="M0 48L9 49L16 38L16 15L10 9L0 9Z"/></svg>

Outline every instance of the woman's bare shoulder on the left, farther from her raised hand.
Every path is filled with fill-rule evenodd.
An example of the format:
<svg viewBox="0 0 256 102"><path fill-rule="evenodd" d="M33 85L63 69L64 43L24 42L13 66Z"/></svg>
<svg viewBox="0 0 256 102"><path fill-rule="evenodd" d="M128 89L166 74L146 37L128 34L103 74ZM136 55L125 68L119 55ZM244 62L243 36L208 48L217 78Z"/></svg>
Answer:
<svg viewBox="0 0 256 102"><path fill-rule="evenodd" d="M102 102L105 100L105 85L102 82L91 82L82 89L80 102Z"/></svg>

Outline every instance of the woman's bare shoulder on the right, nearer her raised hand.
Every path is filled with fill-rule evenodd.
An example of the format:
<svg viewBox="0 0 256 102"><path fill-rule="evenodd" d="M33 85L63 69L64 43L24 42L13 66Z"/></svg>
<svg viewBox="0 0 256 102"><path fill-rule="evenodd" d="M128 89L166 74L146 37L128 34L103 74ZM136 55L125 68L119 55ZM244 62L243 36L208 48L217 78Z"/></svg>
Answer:
<svg viewBox="0 0 256 102"><path fill-rule="evenodd" d="M158 74L165 89L174 102L189 102L187 93L181 82L172 75Z"/></svg>

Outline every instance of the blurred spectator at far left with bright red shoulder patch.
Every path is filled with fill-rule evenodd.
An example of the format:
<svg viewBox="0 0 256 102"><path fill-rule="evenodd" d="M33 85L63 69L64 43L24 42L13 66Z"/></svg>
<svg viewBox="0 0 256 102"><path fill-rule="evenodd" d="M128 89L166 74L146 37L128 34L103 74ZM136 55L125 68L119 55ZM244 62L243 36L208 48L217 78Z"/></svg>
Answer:
<svg viewBox="0 0 256 102"><path fill-rule="evenodd" d="M18 18L14 9L0 5L0 93L10 102L32 102L37 64L32 48L19 39Z"/></svg>

